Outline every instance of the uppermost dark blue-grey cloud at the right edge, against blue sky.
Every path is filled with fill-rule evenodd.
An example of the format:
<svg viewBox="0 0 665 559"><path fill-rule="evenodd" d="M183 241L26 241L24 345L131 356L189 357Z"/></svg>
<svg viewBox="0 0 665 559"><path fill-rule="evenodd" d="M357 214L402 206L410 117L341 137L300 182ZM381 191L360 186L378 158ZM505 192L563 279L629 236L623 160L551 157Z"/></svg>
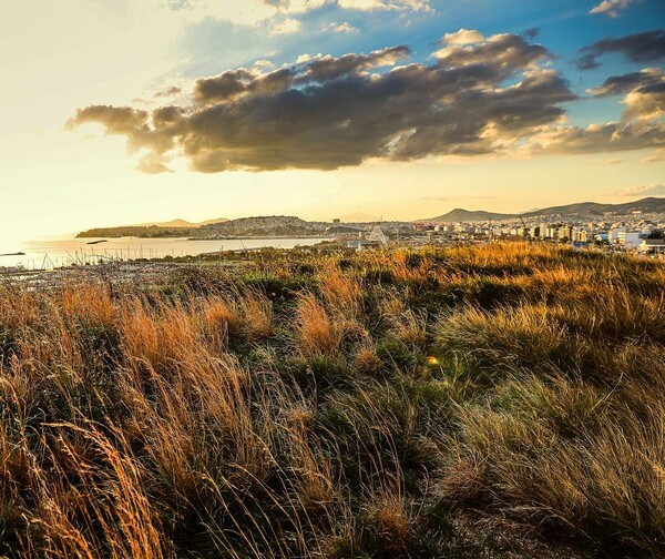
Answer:
<svg viewBox="0 0 665 559"><path fill-rule="evenodd" d="M584 47L581 52L582 57L577 60L581 70L598 68L597 58L613 52L623 54L631 62L661 62L665 60L665 30L603 39Z"/></svg>

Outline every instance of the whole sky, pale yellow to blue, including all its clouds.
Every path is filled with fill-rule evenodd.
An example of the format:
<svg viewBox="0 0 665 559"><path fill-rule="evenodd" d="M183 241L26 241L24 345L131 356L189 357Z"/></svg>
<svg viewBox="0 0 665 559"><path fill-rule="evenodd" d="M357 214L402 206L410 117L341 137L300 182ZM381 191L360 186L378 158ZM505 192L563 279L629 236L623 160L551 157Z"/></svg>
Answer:
<svg viewBox="0 0 665 559"><path fill-rule="evenodd" d="M0 247L665 195L662 0L22 0Z"/></svg>

